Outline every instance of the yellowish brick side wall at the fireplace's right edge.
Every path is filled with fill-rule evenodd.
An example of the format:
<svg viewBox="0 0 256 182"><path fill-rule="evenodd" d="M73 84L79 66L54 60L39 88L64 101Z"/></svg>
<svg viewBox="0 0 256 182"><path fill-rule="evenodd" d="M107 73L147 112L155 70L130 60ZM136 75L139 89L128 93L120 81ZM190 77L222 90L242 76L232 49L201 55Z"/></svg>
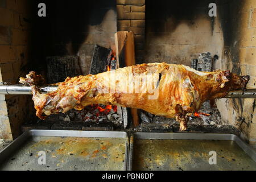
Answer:
<svg viewBox="0 0 256 182"><path fill-rule="evenodd" d="M220 1L221 2L221 1ZM238 75L250 75L247 88L256 88L256 1L226 1L218 6L224 39L216 67ZM255 99L217 101L222 119L242 131L241 137L256 148Z"/></svg>

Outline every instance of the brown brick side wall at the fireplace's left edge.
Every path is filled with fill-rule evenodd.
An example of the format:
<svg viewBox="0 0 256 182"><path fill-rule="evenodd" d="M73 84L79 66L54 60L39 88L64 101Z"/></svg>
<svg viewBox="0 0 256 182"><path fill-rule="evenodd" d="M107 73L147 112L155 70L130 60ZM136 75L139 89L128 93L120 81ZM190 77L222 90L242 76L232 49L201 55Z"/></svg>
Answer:
<svg viewBox="0 0 256 182"><path fill-rule="evenodd" d="M18 84L27 73L29 0L0 0L0 82ZM0 138L13 139L32 108L29 96L0 96ZM29 107L30 106L30 107Z"/></svg>

